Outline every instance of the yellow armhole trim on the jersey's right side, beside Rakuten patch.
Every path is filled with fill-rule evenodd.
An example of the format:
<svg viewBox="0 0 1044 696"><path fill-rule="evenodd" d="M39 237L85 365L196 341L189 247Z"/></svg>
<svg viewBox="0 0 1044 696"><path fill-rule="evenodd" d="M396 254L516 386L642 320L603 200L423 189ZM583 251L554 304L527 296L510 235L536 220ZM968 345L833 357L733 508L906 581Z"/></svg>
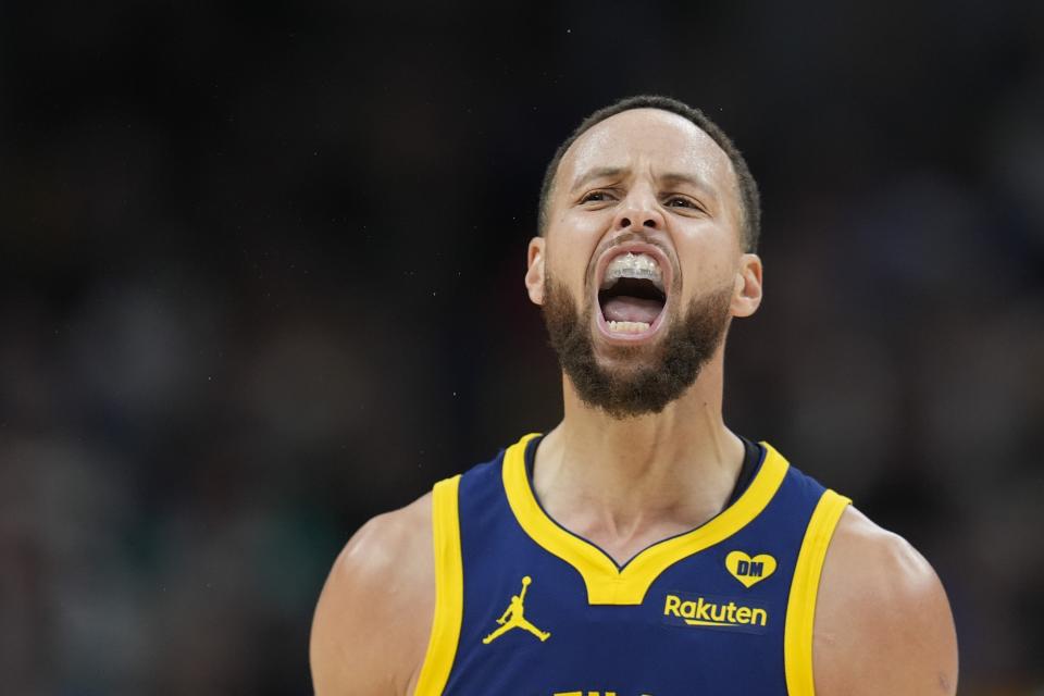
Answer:
<svg viewBox="0 0 1044 696"><path fill-rule="evenodd" d="M812 512L797 555L797 566L791 580L791 596L786 602L786 626L783 630L783 661L786 672L786 692L791 696L816 696L812 679L812 629L816 626L816 596L819 577L826 558L826 548L848 498L826 490Z"/></svg>

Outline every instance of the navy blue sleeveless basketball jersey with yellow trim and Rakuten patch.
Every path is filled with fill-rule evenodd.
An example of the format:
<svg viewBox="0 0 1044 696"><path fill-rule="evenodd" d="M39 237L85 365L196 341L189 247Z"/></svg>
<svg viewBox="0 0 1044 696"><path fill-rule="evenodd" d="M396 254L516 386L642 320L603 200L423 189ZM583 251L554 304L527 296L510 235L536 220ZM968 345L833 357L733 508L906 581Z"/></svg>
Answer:
<svg viewBox="0 0 1044 696"><path fill-rule="evenodd" d="M537 442L435 485L435 616L417 694L815 693L816 594L847 498L762 443L738 498L620 568L540 507Z"/></svg>

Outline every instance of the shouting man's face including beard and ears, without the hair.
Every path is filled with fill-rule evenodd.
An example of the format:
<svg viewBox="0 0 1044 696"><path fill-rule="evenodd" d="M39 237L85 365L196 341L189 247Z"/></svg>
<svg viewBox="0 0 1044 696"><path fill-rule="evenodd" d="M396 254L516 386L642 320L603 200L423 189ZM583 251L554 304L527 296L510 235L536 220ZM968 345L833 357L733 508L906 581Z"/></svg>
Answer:
<svg viewBox="0 0 1044 696"><path fill-rule="evenodd" d="M526 284L584 401L660 411L754 311L737 201L728 156L676 114L625 111L569 149Z"/></svg>

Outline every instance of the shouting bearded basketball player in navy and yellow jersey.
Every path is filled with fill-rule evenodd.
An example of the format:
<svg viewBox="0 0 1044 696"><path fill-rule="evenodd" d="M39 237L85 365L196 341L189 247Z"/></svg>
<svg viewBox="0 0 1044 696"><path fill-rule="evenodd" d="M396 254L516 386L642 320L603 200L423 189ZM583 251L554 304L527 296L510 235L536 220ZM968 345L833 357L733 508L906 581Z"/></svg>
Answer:
<svg viewBox="0 0 1044 696"><path fill-rule="evenodd" d="M315 612L319 696L956 692L928 562L722 420L758 227L703 113L638 97L581 124L525 274L564 418L355 535Z"/></svg>

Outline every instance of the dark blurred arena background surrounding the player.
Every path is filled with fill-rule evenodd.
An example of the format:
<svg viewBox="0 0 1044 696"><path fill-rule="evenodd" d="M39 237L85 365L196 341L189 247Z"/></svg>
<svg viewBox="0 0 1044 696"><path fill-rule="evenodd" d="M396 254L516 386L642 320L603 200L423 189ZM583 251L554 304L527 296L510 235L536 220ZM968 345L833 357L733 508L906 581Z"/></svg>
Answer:
<svg viewBox="0 0 1044 696"><path fill-rule="evenodd" d="M560 417L543 169L637 92L763 196L726 418L1044 693L1044 4L3 3L0 684L310 694L368 518Z"/></svg>

